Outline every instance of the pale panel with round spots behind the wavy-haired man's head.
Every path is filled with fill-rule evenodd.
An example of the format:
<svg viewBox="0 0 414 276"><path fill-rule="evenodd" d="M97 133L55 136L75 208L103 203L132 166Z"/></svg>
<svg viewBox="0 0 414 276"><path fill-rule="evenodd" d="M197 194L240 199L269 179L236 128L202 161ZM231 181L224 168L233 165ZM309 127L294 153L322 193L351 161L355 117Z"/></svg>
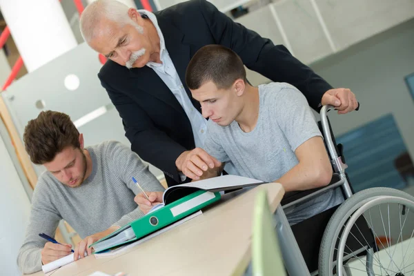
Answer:
<svg viewBox="0 0 414 276"><path fill-rule="evenodd" d="M3 97L20 137L23 138L24 127L28 121L36 118L41 110L64 112L73 121L77 121L103 108L106 110L103 115L79 127L79 132L85 137L86 146L108 139L130 146L125 137L122 120L97 77L101 67L97 52L86 43L81 43L38 70L14 81L6 91L1 92L0 97ZM64 83L68 75L79 78L77 89L66 88ZM45 76L53 76L48 77L47 86L43 81ZM39 109L36 104L38 101L43 101L45 107ZM34 166L34 169L40 175L44 167ZM152 165L150 172L159 179L164 178L164 173Z"/></svg>

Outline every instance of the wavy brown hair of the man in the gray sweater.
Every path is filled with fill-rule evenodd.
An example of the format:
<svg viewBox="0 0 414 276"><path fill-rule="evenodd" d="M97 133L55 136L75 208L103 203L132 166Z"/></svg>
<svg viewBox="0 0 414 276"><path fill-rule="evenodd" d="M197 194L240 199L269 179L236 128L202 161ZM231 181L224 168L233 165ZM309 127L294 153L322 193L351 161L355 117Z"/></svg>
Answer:
<svg viewBox="0 0 414 276"><path fill-rule="evenodd" d="M23 141L34 164L45 164L55 159L64 148L80 148L79 131L65 113L42 111L29 121Z"/></svg>

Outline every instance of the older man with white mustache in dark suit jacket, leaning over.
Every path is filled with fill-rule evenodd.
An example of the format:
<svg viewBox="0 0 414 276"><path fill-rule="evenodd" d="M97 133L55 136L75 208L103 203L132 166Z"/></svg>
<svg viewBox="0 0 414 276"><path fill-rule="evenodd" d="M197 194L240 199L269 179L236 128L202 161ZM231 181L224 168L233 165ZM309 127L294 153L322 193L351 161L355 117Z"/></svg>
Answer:
<svg viewBox="0 0 414 276"><path fill-rule="evenodd" d="M84 10L81 32L90 47L108 58L98 76L121 115L132 150L163 170L168 186L199 179L208 166L220 166L202 150L206 119L184 81L188 62L202 46L232 49L251 70L298 88L316 110L321 104L336 106L340 113L357 108L351 90L333 89L284 46L235 23L206 0L155 13L98 0Z"/></svg>

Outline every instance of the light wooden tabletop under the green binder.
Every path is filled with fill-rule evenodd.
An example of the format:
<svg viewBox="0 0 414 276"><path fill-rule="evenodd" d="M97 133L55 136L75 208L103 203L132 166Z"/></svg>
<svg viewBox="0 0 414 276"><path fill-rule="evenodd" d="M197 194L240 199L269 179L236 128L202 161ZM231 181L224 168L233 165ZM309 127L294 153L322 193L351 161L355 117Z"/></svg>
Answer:
<svg viewBox="0 0 414 276"><path fill-rule="evenodd" d="M88 256L63 266L52 276L87 276L95 271L115 275L237 275L250 261L253 206L258 190L268 191L275 212L284 195L280 184L257 186L223 195L202 215L148 242L112 257ZM44 275L43 272L32 276Z"/></svg>

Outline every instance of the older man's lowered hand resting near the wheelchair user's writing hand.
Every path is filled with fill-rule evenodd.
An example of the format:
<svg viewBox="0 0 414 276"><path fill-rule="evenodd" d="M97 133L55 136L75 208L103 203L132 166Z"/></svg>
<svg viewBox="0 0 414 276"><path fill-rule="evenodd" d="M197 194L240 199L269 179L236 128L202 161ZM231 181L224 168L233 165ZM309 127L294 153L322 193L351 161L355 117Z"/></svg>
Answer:
<svg viewBox="0 0 414 276"><path fill-rule="evenodd" d="M221 162L210 156L202 148L195 148L194 150L187 150L181 153L177 160L175 160L175 166L186 177L199 180L203 172L206 172L208 168L221 166Z"/></svg>

